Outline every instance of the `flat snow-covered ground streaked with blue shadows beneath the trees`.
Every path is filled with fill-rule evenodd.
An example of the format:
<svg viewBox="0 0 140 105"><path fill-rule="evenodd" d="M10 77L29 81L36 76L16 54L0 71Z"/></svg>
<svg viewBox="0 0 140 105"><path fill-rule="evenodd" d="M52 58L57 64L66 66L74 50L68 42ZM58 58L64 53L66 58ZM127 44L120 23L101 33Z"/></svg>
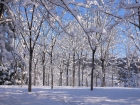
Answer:
<svg viewBox="0 0 140 105"><path fill-rule="evenodd" d="M140 89L0 86L0 105L140 105Z"/></svg>

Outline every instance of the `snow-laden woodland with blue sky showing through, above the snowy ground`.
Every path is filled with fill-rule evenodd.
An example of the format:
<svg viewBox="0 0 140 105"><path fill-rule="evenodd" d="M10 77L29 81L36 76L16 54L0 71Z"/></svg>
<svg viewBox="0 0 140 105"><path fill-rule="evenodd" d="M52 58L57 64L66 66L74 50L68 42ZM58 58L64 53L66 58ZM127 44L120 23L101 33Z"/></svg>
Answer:
<svg viewBox="0 0 140 105"><path fill-rule="evenodd" d="M140 0L0 0L0 85L140 87Z"/></svg>

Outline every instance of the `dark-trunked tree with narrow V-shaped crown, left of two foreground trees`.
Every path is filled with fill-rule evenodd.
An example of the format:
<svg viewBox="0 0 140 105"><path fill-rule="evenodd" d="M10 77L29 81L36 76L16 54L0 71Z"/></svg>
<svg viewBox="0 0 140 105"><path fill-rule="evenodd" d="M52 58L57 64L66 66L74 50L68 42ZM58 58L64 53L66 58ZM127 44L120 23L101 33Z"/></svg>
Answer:
<svg viewBox="0 0 140 105"><path fill-rule="evenodd" d="M24 10L24 11L23 11ZM28 81L28 91L31 92L32 85L32 61L33 52L35 45L37 43L38 37L40 36L42 23L44 22L43 17L39 14L35 5L28 7L21 7L20 16L17 17L17 21L21 22L23 26L18 28L18 33L24 40L24 44L29 51L29 81ZM25 14L25 15L24 15ZM22 29L22 30L21 30Z"/></svg>

